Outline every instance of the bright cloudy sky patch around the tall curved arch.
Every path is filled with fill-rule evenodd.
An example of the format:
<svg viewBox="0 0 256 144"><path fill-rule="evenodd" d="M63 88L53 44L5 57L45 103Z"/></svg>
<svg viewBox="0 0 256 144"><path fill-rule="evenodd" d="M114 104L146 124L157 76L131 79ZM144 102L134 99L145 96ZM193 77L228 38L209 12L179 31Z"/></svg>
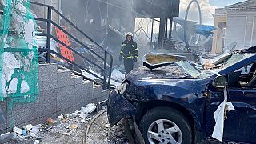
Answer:
<svg viewBox="0 0 256 144"><path fill-rule="evenodd" d="M186 9L187 6L191 0L181 0L180 2L180 17L185 18ZM210 4L209 0L198 0L199 5L202 10L202 23L207 25L214 25L214 17L212 14L214 14L215 9L217 6L213 6ZM193 3L190 6L190 13L188 16L189 20L199 22L198 20L198 6L196 6L195 3Z"/></svg>

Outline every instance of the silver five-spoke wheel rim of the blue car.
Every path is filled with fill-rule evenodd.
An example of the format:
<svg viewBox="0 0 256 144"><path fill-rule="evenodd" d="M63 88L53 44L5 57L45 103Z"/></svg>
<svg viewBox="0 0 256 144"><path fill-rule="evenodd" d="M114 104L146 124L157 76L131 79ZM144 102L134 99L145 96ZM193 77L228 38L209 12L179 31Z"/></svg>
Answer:
<svg viewBox="0 0 256 144"><path fill-rule="evenodd" d="M158 119L148 128L147 138L150 144L178 144L182 143L182 131L174 122Z"/></svg>

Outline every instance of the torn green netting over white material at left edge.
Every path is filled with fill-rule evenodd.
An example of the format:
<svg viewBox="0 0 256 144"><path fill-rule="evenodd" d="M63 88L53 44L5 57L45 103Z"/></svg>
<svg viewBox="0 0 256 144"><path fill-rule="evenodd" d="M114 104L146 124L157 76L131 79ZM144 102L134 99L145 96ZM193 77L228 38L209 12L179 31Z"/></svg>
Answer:
<svg viewBox="0 0 256 144"><path fill-rule="evenodd" d="M1 0L0 99L30 102L38 96L38 50L29 0Z"/></svg>

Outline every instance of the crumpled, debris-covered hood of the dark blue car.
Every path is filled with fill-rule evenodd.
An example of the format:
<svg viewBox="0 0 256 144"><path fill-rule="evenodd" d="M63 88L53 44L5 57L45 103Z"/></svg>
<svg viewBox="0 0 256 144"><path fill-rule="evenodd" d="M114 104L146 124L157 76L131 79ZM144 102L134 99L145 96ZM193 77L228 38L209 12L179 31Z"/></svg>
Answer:
<svg viewBox="0 0 256 144"><path fill-rule="evenodd" d="M197 79L184 73L178 66L170 66L156 70L145 67L135 69L127 75L126 80L130 82L129 90L143 90L147 86L175 86L191 93L201 93L212 78ZM136 91L132 92L136 93Z"/></svg>

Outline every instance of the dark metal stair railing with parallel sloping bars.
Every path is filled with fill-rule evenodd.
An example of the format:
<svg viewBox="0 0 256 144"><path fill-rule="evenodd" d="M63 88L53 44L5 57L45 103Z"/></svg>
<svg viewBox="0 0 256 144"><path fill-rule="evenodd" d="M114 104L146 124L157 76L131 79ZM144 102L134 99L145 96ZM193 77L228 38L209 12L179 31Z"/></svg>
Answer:
<svg viewBox="0 0 256 144"><path fill-rule="evenodd" d="M62 58L62 60L68 62L70 65L77 66L81 70L85 70L87 73L93 75L95 78L98 78L102 81L103 89L110 88L110 77L111 77L111 70L113 66L113 57L112 55L106 51L102 46L100 46L97 42L95 42L92 38L90 38L87 34L85 34L81 29L78 28L78 26L75 26L73 22L70 22L68 18L63 16L58 10L56 10L53 6L49 6L46 4L38 3L38 2L31 2L32 5L37 6L43 6L43 8L47 9L47 18L34 18L36 21L40 22L46 22L47 28L46 28L46 34L37 34L38 36L45 36L46 37L46 48L38 48L39 52L46 52L46 62L50 63L50 54L55 54L58 58ZM75 30L78 30L79 34L82 34L82 36L86 37L90 42L93 42L95 46L98 46L100 50L103 50L104 56L102 57L100 54L97 54L94 50L90 49L90 47L86 46L85 43L78 40L78 38L75 38L72 34L67 32L62 28L62 26L58 26L56 22L53 22L52 20L52 14L56 13L59 17L61 17L63 20L68 22L70 26L72 26ZM95 58L99 58L104 62L103 66L99 66L96 62L92 62L89 58L86 58L84 55L79 53L77 50L74 50L72 47L67 46L64 42L60 41L58 38L56 38L53 34L51 34L52 26L55 26L59 30L62 30L63 33L65 33L69 38L72 38L75 42L77 42L79 45L86 48L86 50L89 50L91 54L94 54ZM90 62L91 66L97 67L99 70L102 71L103 78L98 76L97 74L92 73L90 70L87 70L84 66L79 65L76 62L70 61L68 58L65 58L62 56L62 54L58 54L54 50L50 49L50 40L53 39L54 41L58 42L58 44L65 46L68 50L71 50L74 54L77 54L79 57L83 58L83 60L86 60L87 62ZM109 68L107 67L107 59L110 58L110 65Z"/></svg>

